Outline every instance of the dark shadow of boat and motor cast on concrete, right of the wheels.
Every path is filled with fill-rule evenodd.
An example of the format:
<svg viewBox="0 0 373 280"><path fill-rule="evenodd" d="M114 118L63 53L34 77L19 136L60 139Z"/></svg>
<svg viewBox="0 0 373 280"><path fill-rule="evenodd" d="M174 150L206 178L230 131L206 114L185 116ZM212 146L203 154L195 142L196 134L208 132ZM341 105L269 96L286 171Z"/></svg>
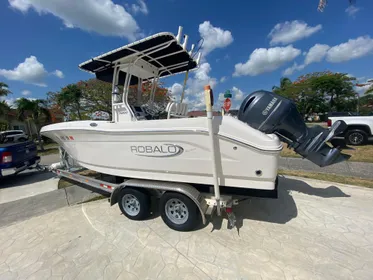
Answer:
<svg viewBox="0 0 373 280"><path fill-rule="evenodd" d="M237 230L239 231L243 226L243 221L246 219L285 224L296 218L298 215L298 209L292 196L292 192L299 192L326 199L350 197L336 186L314 188L301 180L280 177L277 199L253 197L235 206L234 211L237 220ZM223 215L222 217L214 215L210 218L210 223L213 225L212 230L221 229L223 219L226 219L226 215Z"/></svg>

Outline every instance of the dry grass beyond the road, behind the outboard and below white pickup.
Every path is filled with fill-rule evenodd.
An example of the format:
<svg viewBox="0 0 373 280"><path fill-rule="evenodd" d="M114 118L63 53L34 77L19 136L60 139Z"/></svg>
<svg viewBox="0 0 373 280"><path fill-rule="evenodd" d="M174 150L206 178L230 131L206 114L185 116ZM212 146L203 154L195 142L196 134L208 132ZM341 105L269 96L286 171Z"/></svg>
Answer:
<svg viewBox="0 0 373 280"><path fill-rule="evenodd" d="M282 157L297 157L300 158L298 154L290 150L287 144L283 144L284 149L281 152ZM371 162L373 163L373 145L366 146L354 146L352 149L344 149L343 153L351 155L349 161L359 161L359 162Z"/></svg>

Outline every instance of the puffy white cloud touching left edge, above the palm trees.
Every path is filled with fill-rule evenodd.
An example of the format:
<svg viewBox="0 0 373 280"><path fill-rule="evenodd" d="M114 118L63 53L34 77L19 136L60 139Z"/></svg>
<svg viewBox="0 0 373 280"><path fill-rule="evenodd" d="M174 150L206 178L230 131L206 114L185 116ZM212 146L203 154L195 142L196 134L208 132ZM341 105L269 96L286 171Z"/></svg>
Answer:
<svg viewBox="0 0 373 280"><path fill-rule="evenodd" d="M46 87L44 82L48 72L35 56L30 56L18 64L13 70L0 69L0 76L8 80L22 81L24 83Z"/></svg>

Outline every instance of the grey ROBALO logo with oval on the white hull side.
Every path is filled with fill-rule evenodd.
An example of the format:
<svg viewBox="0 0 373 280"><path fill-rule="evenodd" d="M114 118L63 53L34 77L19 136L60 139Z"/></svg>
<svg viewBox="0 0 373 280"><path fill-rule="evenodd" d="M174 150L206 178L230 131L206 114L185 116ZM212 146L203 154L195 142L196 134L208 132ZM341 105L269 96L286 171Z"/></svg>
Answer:
<svg viewBox="0 0 373 280"><path fill-rule="evenodd" d="M131 146L131 152L137 156L173 157L181 155L184 149L174 144L138 145Z"/></svg>

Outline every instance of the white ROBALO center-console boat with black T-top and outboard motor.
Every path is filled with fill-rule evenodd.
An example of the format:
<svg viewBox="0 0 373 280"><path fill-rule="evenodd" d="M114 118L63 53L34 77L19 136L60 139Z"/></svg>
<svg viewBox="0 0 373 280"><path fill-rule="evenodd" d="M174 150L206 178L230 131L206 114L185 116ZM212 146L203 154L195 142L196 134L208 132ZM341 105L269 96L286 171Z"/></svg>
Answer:
<svg viewBox="0 0 373 280"><path fill-rule="evenodd" d="M156 84L159 78L188 73L198 67L200 54L193 52L193 46L187 50L187 35L181 43L181 31L179 28L176 36L159 33L80 64L81 69L94 73L97 79L112 82L112 120L57 123L44 126L41 134L57 142L80 166L100 173L202 185L211 185L212 177L216 177L221 187L274 190L282 150L280 138L294 140L291 126L286 130L276 124L270 126L274 131L266 131L275 114L282 114L276 117L277 121L287 117L286 110L280 109L290 105L281 97L267 93L264 98L265 92L254 93L251 99L244 100L238 118L214 116L213 144L210 118L188 118L185 103L170 102L166 119L152 119L154 88L145 106L128 104L131 85L141 89L144 81ZM123 93L119 93L117 85L124 85ZM266 98L270 98L268 102ZM261 117L251 117L254 112ZM263 120L258 123L256 119ZM297 137L288 143L293 143L297 152L317 164L323 161L319 165L341 160L337 149L325 147L325 130L316 134L306 131L307 134L302 131L303 121L296 121L293 124L299 125L299 130L293 134ZM277 127L280 128L276 130ZM299 139L305 138L297 133L319 142L302 142Z"/></svg>

